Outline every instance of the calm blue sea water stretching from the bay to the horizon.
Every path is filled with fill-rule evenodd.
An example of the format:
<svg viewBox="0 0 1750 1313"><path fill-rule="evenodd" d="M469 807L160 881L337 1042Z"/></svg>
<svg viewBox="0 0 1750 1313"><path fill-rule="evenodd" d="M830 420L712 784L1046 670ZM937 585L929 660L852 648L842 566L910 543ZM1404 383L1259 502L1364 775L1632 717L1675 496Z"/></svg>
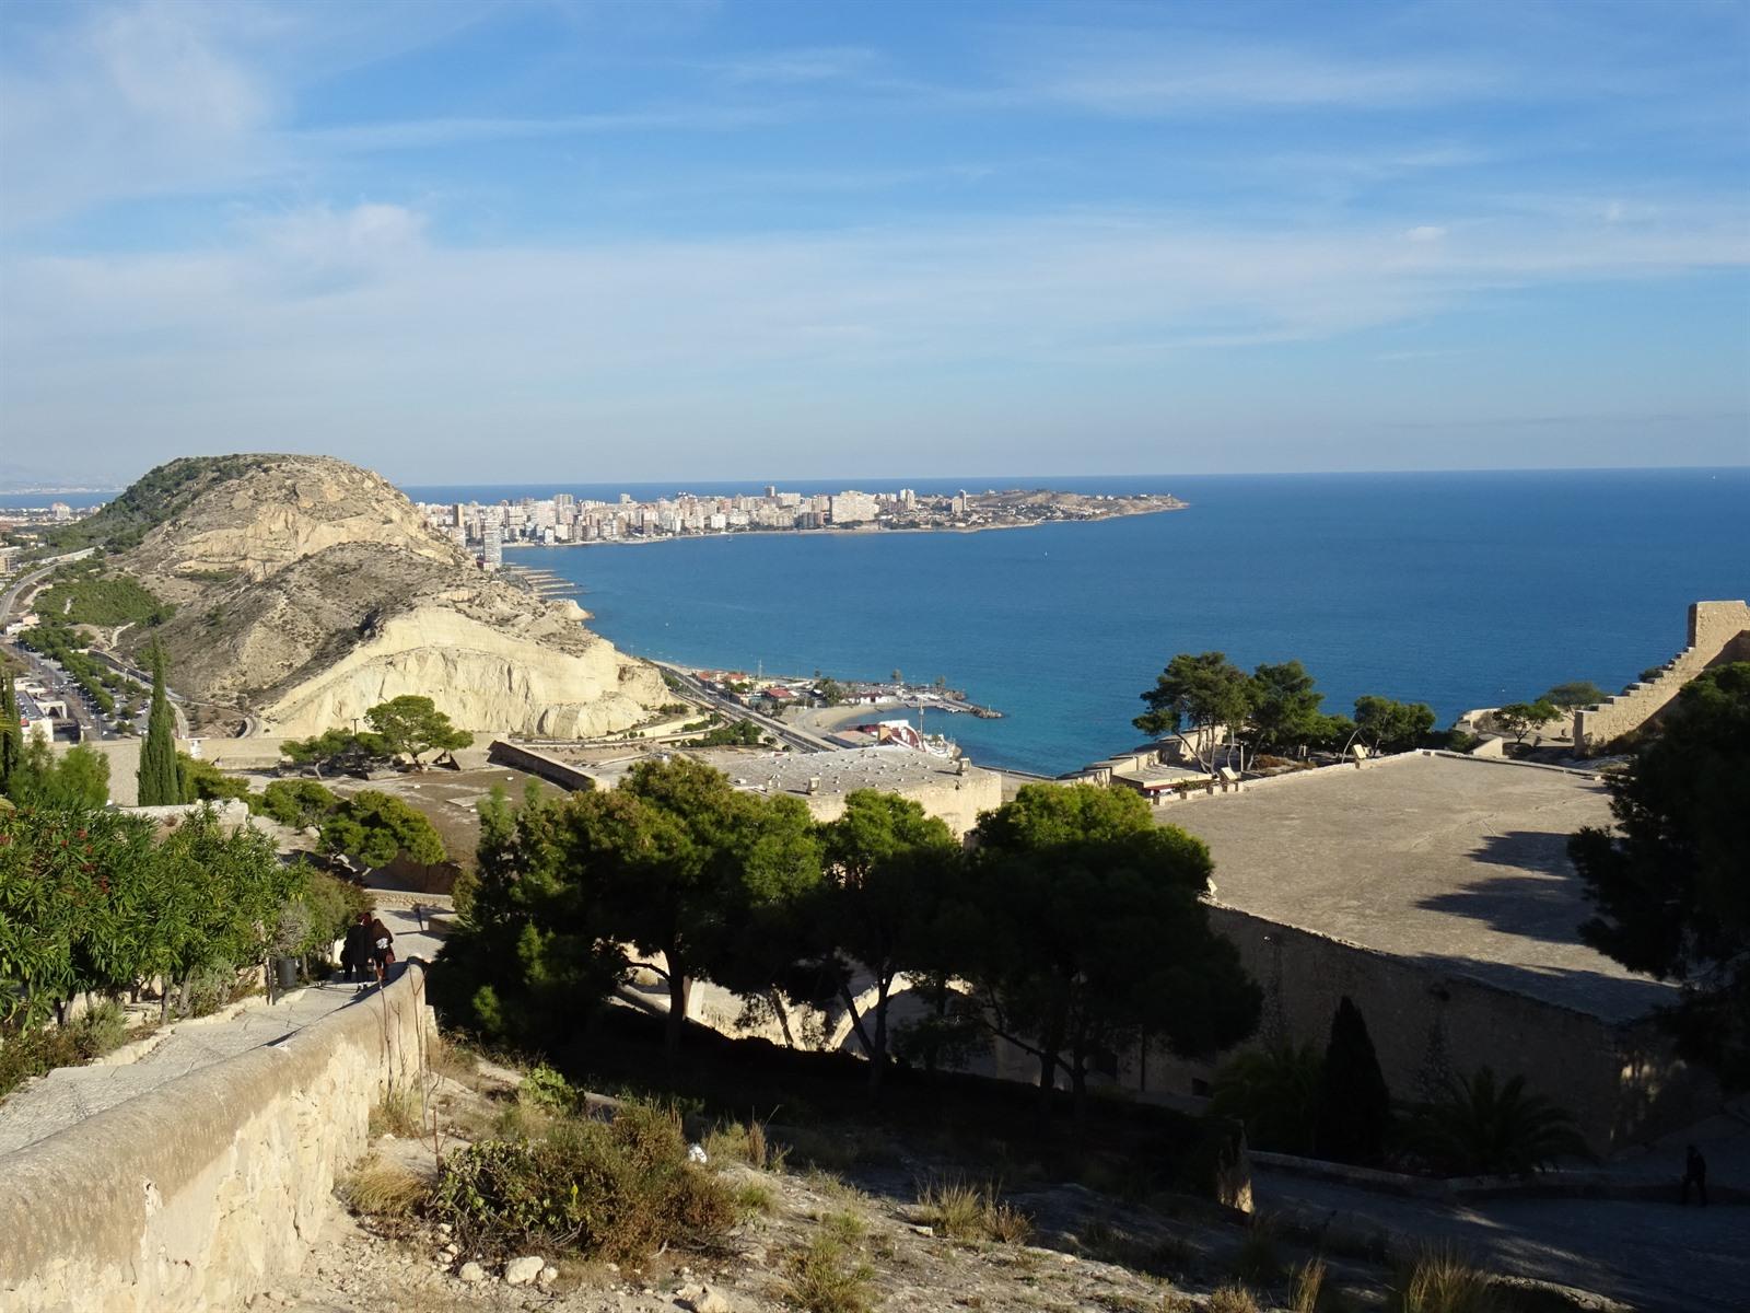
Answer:
<svg viewBox="0 0 1750 1313"><path fill-rule="evenodd" d="M1029 480L1041 483L1041 480ZM1566 679L1666 662L1698 599L1750 597L1750 469L1048 480L1185 511L982 534L747 534L516 553L576 581L621 648L693 665L945 676L1006 713L931 723L973 760L1059 774L1134 744L1180 651L1300 658L1449 723ZM864 490L1013 480L863 480ZM693 492L758 490L754 483ZM840 483L788 485L838 490ZM420 488L422 501L681 485Z"/></svg>

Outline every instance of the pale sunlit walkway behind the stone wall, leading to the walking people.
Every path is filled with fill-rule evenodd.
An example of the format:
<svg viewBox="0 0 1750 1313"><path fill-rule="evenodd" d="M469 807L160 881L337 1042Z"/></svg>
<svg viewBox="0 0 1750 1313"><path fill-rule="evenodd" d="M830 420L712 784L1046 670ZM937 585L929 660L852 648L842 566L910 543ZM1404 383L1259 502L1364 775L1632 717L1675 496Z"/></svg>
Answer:
<svg viewBox="0 0 1750 1313"><path fill-rule="evenodd" d="M380 910L396 935L397 958L438 954L439 940L422 935L411 912ZM275 1005L250 1003L226 1017L194 1017L168 1026L158 1042L131 1063L63 1066L0 1103L0 1155L46 1140L86 1117L114 1108L150 1089L222 1063L226 1057L282 1043L313 1021L376 996L350 984L322 984L287 994Z"/></svg>

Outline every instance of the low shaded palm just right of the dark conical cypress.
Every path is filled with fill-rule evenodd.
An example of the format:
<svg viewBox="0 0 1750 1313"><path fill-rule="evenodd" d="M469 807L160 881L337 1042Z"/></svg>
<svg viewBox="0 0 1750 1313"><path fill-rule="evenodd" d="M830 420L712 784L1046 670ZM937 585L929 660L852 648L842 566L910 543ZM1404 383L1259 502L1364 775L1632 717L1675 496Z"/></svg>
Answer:
<svg viewBox="0 0 1750 1313"><path fill-rule="evenodd" d="M1418 1108L1404 1127L1404 1148L1452 1176L1530 1176L1561 1157L1591 1157L1572 1113L1528 1094L1524 1077L1496 1085L1486 1066L1468 1080L1449 1080Z"/></svg>

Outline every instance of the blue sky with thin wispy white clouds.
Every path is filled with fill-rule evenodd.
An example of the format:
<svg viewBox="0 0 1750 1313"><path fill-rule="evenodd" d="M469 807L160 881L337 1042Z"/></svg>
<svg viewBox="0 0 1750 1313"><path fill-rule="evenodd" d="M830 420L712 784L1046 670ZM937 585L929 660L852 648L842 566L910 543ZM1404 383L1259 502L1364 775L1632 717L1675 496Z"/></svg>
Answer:
<svg viewBox="0 0 1750 1313"><path fill-rule="evenodd" d="M1750 464L1750 7L0 5L0 476Z"/></svg>

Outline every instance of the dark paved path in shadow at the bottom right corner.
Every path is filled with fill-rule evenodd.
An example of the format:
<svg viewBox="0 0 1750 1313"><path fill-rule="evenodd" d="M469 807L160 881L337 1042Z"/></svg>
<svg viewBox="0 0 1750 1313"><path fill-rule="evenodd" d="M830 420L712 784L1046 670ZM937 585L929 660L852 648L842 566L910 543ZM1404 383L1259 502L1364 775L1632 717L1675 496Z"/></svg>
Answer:
<svg viewBox="0 0 1750 1313"><path fill-rule="evenodd" d="M1374 1194L1253 1169L1260 1208L1312 1227L1449 1241L1508 1274L1610 1295L1643 1313L1743 1313L1750 1208L1624 1199L1484 1199L1463 1204Z"/></svg>

